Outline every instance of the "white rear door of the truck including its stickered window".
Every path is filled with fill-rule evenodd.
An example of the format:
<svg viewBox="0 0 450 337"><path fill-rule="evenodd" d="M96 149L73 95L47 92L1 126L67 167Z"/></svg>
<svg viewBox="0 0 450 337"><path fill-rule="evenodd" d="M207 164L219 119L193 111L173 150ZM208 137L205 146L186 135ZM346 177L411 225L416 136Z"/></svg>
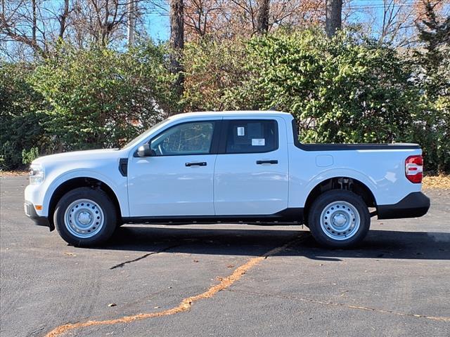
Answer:
<svg viewBox="0 0 450 337"><path fill-rule="evenodd" d="M214 169L217 216L269 215L288 207L285 121L224 117Z"/></svg>

